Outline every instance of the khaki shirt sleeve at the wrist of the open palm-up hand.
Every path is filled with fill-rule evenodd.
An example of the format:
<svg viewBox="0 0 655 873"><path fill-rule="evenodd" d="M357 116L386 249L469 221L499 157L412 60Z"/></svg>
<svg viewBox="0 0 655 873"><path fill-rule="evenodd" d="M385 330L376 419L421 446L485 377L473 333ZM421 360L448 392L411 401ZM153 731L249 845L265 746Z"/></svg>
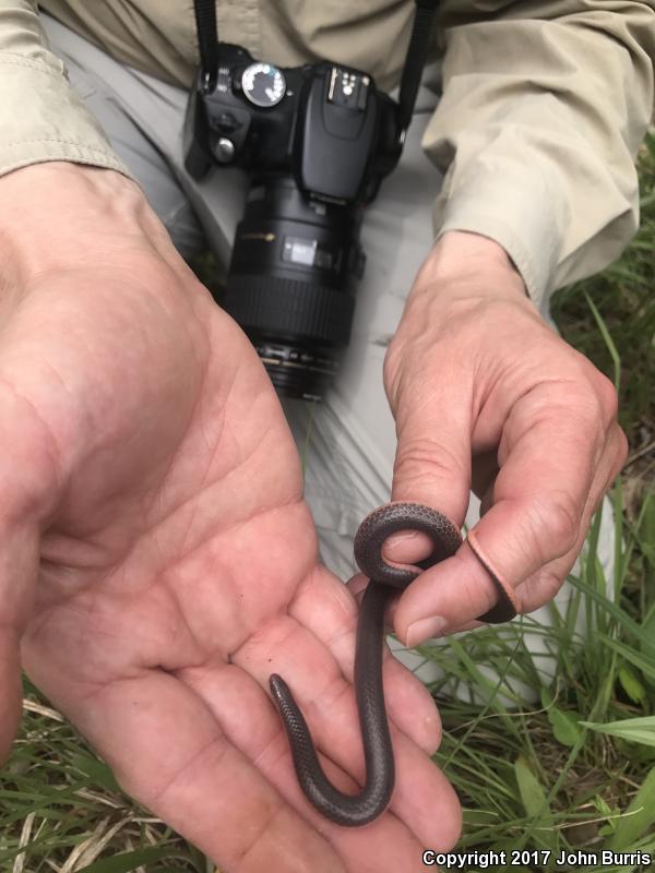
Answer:
<svg viewBox="0 0 655 873"><path fill-rule="evenodd" d="M47 160L130 176L48 50L37 3L0 0L0 175Z"/></svg>

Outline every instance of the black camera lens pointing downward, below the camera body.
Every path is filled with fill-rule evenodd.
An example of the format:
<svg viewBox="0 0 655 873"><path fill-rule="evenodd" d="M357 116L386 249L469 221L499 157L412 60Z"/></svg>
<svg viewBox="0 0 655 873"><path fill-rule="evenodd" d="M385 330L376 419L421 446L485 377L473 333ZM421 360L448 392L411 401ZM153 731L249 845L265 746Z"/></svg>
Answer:
<svg viewBox="0 0 655 873"><path fill-rule="evenodd" d="M283 396L321 399L336 372L364 271L360 224L360 208L310 201L290 176L252 183L219 302Z"/></svg>

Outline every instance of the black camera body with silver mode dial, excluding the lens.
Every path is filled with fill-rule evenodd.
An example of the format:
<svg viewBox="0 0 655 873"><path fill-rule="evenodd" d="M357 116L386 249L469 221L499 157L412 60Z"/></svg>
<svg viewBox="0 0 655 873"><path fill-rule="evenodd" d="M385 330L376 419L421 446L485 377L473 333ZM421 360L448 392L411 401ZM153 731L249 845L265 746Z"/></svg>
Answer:
<svg viewBox="0 0 655 873"><path fill-rule="evenodd" d="M359 70L278 69L221 43L214 82L201 72L189 104L187 169L196 179L215 164L286 172L312 199L364 204L400 158L396 110Z"/></svg>

